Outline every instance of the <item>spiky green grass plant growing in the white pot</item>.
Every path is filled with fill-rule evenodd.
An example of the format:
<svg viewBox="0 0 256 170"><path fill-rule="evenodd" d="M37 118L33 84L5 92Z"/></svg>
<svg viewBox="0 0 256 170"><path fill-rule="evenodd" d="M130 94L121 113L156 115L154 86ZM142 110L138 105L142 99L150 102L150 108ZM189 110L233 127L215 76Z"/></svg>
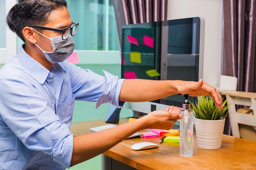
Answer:
<svg viewBox="0 0 256 170"><path fill-rule="evenodd" d="M195 118L204 120L221 120L229 116L228 108L233 103L226 105L227 100L222 102L222 110L220 110L215 104L214 99L211 96L201 96L202 100L197 97L198 101L191 104L191 110L194 111ZM222 98L223 100L223 98Z"/></svg>

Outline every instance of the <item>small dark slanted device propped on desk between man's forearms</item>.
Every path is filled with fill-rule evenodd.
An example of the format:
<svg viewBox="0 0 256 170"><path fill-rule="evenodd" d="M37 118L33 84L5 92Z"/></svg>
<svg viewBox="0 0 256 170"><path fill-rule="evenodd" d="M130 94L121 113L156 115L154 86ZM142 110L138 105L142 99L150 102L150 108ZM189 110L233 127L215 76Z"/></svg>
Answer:
<svg viewBox="0 0 256 170"><path fill-rule="evenodd" d="M105 122L117 124L119 122L120 111L121 111L121 108L117 108L114 105L110 104L108 108L107 116L105 118Z"/></svg>

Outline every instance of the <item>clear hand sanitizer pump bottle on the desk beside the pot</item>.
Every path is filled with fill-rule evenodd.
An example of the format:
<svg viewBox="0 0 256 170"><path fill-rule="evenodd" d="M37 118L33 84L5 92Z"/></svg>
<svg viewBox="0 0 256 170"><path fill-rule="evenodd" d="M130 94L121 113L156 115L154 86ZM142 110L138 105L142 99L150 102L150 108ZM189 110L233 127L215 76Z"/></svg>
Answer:
<svg viewBox="0 0 256 170"><path fill-rule="evenodd" d="M185 102L182 104L180 113L183 118L180 120L180 156L193 156L193 111L190 109L188 94L185 94Z"/></svg>

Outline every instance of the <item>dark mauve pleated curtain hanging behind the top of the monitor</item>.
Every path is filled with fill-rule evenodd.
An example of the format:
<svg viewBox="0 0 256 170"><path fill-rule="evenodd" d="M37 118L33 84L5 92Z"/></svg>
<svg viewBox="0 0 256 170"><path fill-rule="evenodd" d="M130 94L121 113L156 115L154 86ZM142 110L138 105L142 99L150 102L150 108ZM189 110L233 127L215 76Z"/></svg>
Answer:
<svg viewBox="0 0 256 170"><path fill-rule="evenodd" d="M167 19L167 0L112 0L121 51L122 25Z"/></svg>

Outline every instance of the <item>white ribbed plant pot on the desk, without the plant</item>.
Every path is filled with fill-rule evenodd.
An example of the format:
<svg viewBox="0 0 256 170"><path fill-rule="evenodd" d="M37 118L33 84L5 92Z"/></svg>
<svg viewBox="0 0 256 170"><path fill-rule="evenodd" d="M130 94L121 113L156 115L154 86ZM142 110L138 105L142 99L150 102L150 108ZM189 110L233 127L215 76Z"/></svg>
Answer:
<svg viewBox="0 0 256 170"><path fill-rule="evenodd" d="M222 135L225 119L202 120L195 118L195 132L198 148L219 149L221 148Z"/></svg>

